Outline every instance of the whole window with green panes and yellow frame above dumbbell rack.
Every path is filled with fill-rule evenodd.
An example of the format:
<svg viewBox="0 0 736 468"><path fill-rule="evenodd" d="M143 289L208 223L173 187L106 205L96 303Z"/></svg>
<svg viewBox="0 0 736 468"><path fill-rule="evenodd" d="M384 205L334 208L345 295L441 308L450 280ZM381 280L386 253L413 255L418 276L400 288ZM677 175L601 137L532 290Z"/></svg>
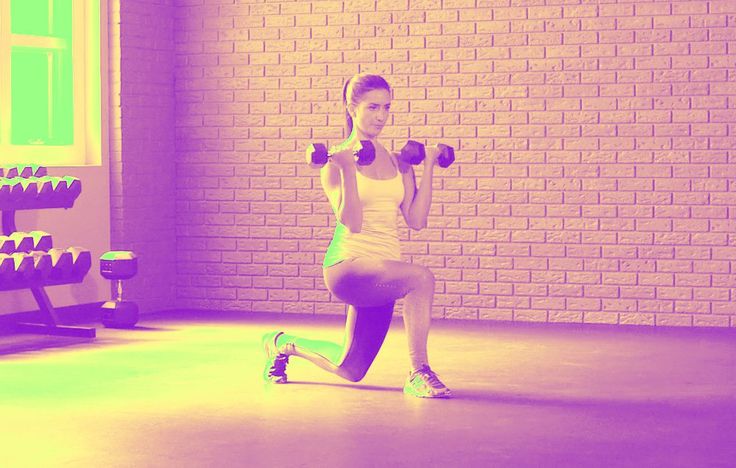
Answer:
<svg viewBox="0 0 736 468"><path fill-rule="evenodd" d="M0 163L101 163L99 0L0 0Z"/></svg>

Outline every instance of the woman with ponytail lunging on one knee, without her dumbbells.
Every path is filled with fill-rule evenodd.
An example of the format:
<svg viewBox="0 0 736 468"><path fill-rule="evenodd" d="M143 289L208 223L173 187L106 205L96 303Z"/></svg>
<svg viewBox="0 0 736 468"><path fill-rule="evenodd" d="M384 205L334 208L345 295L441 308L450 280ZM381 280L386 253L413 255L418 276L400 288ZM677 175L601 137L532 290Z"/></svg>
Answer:
<svg viewBox="0 0 736 468"><path fill-rule="evenodd" d="M394 302L404 298L404 326L409 342L409 372L404 393L425 398L449 397L450 390L429 367L427 338L435 279L429 269L401 261L397 210L411 229L427 225L432 173L439 156L427 148L424 175L416 188L414 170L378 142L391 106L391 88L378 75L353 76L343 88L349 137L331 151L321 170L322 187L337 217L335 234L323 264L327 289L348 304L343 346L283 332L264 336L264 378L286 383L289 356L357 382L368 371L388 332ZM376 158L358 166L354 150L370 140Z"/></svg>

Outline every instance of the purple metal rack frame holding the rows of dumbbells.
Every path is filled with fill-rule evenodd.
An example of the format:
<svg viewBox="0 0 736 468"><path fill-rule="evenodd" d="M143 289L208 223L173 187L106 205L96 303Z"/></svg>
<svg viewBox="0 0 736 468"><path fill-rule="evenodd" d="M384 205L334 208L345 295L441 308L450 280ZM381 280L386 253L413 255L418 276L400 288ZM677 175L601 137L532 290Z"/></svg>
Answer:
<svg viewBox="0 0 736 468"><path fill-rule="evenodd" d="M72 206L74 206L74 198L64 199L64 197L57 197L50 201L39 201L32 198L12 202L0 200L0 212L2 212L2 234L9 236L13 232L17 231L15 226L15 213L18 210L38 210L45 208L68 209ZM8 282L0 281L0 291L26 288L30 289L36 303L38 304L42 321L44 322L15 323L13 324L14 331L17 333L94 338L96 336L96 330L94 328L59 325L58 313L54 310L51 300L44 290L44 286L81 283L86 273L87 272L84 272L81 275L74 275L66 278L30 278Z"/></svg>

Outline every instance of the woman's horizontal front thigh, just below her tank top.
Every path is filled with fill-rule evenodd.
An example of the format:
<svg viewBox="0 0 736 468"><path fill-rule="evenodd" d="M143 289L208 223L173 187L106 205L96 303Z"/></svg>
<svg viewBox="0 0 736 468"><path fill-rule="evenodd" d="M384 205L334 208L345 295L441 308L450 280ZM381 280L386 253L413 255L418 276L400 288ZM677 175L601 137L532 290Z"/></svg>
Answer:
<svg viewBox="0 0 736 468"><path fill-rule="evenodd" d="M419 287L434 287L424 266L397 260L354 258L323 270L325 285L341 301L375 307L396 301Z"/></svg>

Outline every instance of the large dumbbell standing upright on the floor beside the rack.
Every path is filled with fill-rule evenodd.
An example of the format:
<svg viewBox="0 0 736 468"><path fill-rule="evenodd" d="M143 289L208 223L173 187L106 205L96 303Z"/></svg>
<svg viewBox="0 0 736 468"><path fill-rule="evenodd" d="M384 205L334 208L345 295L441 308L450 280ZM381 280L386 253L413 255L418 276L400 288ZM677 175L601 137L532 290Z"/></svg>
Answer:
<svg viewBox="0 0 736 468"><path fill-rule="evenodd" d="M107 328L132 328L138 322L138 304L123 300L123 280L138 273L138 258L133 252L117 250L100 257L100 274L113 280L117 291L113 300L102 304L102 324Z"/></svg>

